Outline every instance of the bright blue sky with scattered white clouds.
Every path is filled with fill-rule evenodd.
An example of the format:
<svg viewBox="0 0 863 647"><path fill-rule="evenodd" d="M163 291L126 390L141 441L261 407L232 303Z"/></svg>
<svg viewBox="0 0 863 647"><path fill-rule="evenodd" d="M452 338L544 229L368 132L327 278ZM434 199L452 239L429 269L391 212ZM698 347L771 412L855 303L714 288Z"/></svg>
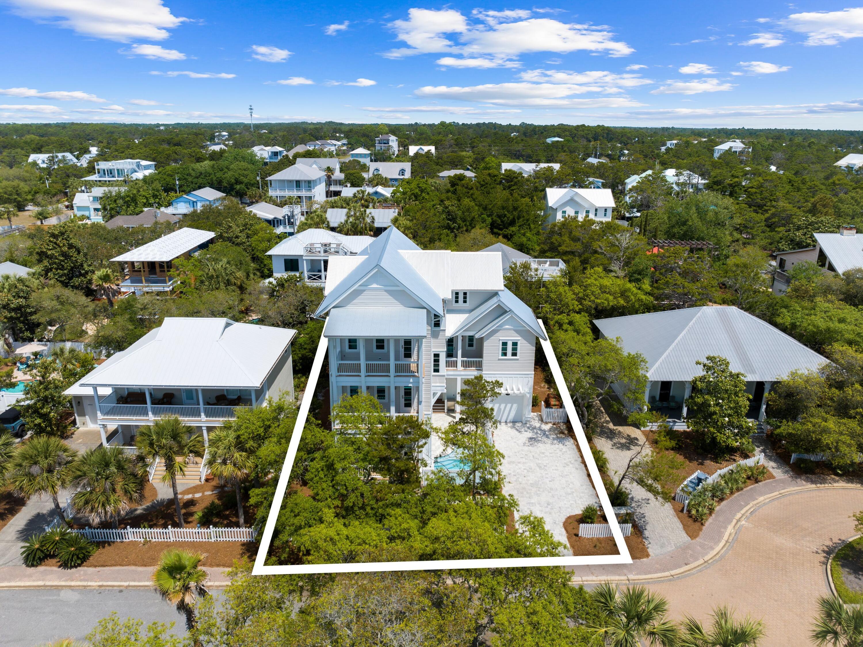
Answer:
<svg viewBox="0 0 863 647"><path fill-rule="evenodd" d="M860 0L857 0L860 3ZM863 128L847 2L0 0L0 121Z"/></svg>

